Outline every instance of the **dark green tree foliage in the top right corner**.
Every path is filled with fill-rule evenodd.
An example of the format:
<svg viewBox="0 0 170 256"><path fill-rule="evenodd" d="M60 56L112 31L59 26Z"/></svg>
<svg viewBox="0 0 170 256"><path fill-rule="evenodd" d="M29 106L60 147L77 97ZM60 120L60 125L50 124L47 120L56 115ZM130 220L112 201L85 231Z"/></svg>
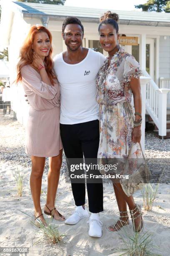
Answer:
<svg viewBox="0 0 170 256"><path fill-rule="evenodd" d="M170 0L148 0L143 5L135 5L135 8L142 8L143 12L170 13Z"/></svg>

